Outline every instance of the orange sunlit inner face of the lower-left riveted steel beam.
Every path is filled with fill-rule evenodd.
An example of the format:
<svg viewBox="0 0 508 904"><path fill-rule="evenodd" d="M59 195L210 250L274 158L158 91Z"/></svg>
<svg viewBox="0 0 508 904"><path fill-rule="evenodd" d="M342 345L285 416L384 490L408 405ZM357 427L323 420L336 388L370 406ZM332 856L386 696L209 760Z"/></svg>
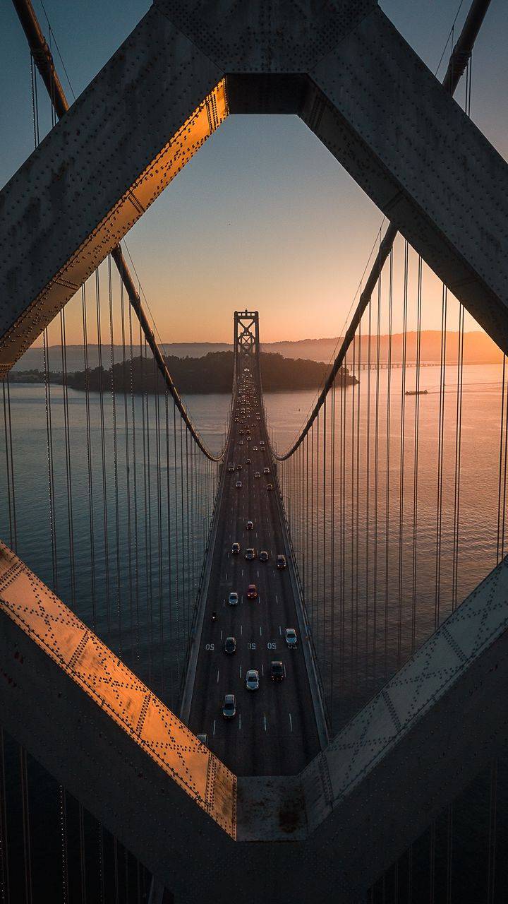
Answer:
<svg viewBox="0 0 508 904"><path fill-rule="evenodd" d="M236 839L236 776L2 542L0 608Z"/></svg>

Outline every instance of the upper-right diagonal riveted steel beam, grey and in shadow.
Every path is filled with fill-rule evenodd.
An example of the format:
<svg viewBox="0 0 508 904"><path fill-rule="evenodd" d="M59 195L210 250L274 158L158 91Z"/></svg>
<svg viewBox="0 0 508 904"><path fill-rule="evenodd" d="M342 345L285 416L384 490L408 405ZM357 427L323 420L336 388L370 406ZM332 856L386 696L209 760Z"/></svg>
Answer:
<svg viewBox="0 0 508 904"><path fill-rule="evenodd" d="M310 73L302 118L508 352L508 165L376 9Z"/></svg>

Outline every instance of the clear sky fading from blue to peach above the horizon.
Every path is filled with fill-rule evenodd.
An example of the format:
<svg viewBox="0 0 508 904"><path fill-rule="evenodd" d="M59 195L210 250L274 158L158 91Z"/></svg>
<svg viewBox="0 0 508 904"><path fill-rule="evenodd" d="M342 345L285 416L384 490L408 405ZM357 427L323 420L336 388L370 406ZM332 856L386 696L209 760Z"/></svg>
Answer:
<svg viewBox="0 0 508 904"><path fill-rule="evenodd" d="M436 71L459 3L380 5ZM33 0L46 36L47 19L52 25L69 99L70 83L78 96L149 5ZM469 5L463 0L456 33ZM471 112L508 159L507 42L508 4L492 0L475 47ZM447 55L441 75L446 63ZM41 107L44 132L49 102ZM33 150L29 53L10 0L0 2L0 135L1 186ZM127 247L165 342L230 341L232 312L245 307L259 310L264 342L319 338L343 332L381 221L381 212L298 118L231 116L128 233ZM427 285L424 326L438 328L439 286L431 277ZM466 328L473 327L468 320ZM68 341L80 341L78 316L68 326Z"/></svg>

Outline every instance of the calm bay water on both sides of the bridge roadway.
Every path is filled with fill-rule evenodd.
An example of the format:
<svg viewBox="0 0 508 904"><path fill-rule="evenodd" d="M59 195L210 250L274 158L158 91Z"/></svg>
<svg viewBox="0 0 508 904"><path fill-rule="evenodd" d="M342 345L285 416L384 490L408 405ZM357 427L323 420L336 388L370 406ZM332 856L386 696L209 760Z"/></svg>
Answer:
<svg viewBox="0 0 508 904"><path fill-rule="evenodd" d="M307 608L313 626L315 647L322 668L329 707L339 728L358 706L376 690L385 674L434 628L436 618L436 532L437 532L437 423L439 409L438 368L422 369L420 388L428 395L419 401L418 553L413 579L414 532L414 398L405 403L406 424L403 448L404 487L400 553L400 404L401 373L391 372L389 489L386 482L386 413L388 373L380 373L379 429L377 455L380 479L373 476L375 439L367 440L369 405L368 374L362 372L355 406L360 397L360 441L353 446L351 412L353 391L346 391L346 454L343 459L344 489L335 480L323 503L311 513L313 541L295 499L287 502L293 523L294 542L300 571L305 579ZM407 388L413 377L408 373ZM371 373L371 423L375 374ZM266 397L273 438L280 451L296 435L311 407L314 392L274 393ZM193 419L202 436L219 450L227 423L230 400L225 396L196 396L188 400ZM337 402L337 406L338 406ZM102 405L102 408L101 408ZM338 412L338 408L337 408ZM456 455L456 372L447 373L444 430L444 477L442 554L438 618L446 617L454 605L492 569L496 560L497 510L499 490L499 447L501 412L501 368L471 366L464 369L462 452L460 480L460 530L458 570L453 580L453 512ZM69 392L68 409L61 387L52 387L52 447L48 457L48 435L44 388L11 387L11 414L14 450L15 529L20 556L50 586L55 586L99 636L118 649L137 673L157 692L175 705L182 678L185 649L192 619L193 598L202 566L209 515L216 485L216 471L201 457L196 459L193 482L186 473L190 452L169 410L166 431L165 400L101 400L90 395L89 410L80 392ZM87 415L89 428L87 427ZM69 444L66 447L66 416ZM113 430L113 419L117 431ZM336 419L338 414L336 415ZM328 418L328 430L330 418ZM147 425L146 430L143 425ZM116 438L116 442L115 442ZM356 439L354 440L356 442ZM9 522L8 485L5 469L5 439L2 437L0 470L0 535L8 544L14 532L13 506ZM359 451L358 451L359 450ZM358 457L359 455L359 457ZM367 458L370 469L367 475ZM50 506L49 460L52 463L53 510ZM340 473L339 447L335 448L335 476ZM356 468L356 470L355 470ZM71 498L67 476L71 474ZM279 468L282 477L283 468ZM331 462L328 463L328 486ZM367 479L368 478L368 479ZM320 478L319 478L320 479ZM315 481L318 475L315 471ZM367 499L366 487L369 487ZM358 487L358 492L357 492ZM375 494L377 493L377 497ZM373 500L377 498L377 506ZM390 513L389 530L381 513ZM343 514L341 515L341 505ZM292 506L292 509L291 509ZM377 534L374 512L378 511ZM343 521L341 521L341 518ZM343 564L346 575L341 588L338 562L331 568L329 536L334 519L335 537L343 524ZM73 543L70 541L70 525ZM91 530L90 530L91 528ZM52 534L56 538L56 559L52 559ZM374 541L374 537L376 537ZM373 575L374 543L377 571ZM328 545L327 545L328 544ZM388 554L387 554L388 553ZM93 569L91 563L93 560ZM312 562L314 561L314 570ZM326 566L325 563L326 562ZM388 570L386 564L388 563ZM401 591L400 591L401 579ZM413 600L416 595L416 607ZM339 626L343 624L343 635ZM12 851L21 853L19 760L14 747L5 748L10 778L7 809ZM499 766L498 843L506 843L508 805L505 800L506 768ZM53 780L36 764L29 769L33 809L34 871L45 877L55 900L61 898L58 846L42 833L42 824L53 824L61 837L60 792ZM435 825L414 846L412 859L406 856L376 890L377 900L447 900L448 866L453 873L454 901L485 900L484 877L489 836L489 777L480 777L464 799L456 802L454 829L448 818ZM41 842L45 837L44 844ZM89 862L89 899L99 881L101 858L109 857L117 876L118 852L115 843L99 842L97 824L88 816L84 836ZM71 899L80 900L80 811L68 800L66 828L69 851ZM106 836L105 836L106 837ZM450 842L450 838L452 839ZM100 849L102 843L104 850ZM453 856L450 859L450 845ZM106 851L106 852L105 852ZM108 853L109 852L109 853ZM469 852L469 853L468 853ZM14 854L13 854L14 856ZM123 854L121 855L124 856ZM54 862L53 862L54 860ZM126 861L127 863L127 861ZM128 866L128 869L127 869ZM126 866L130 879L125 887L141 889L132 863ZM465 881L467 867L467 881ZM435 887L429 890L429 876ZM97 875L96 875L97 874ZM505 866L498 863L495 900L505 900ZM95 878L94 878L95 877ZM136 885L137 883L137 885ZM140 884L141 883L141 884ZM397 884L399 883L399 884ZM397 891L395 890L397 886ZM120 881L120 899L122 899ZM113 893L113 892L112 892ZM117 891L114 892L117 894ZM143 891L139 899L143 899ZM22 897L19 898L23 899ZM108 898L107 898L108 899ZM114 899L111 897L110 899ZM133 898L135 899L135 898Z"/></svg>

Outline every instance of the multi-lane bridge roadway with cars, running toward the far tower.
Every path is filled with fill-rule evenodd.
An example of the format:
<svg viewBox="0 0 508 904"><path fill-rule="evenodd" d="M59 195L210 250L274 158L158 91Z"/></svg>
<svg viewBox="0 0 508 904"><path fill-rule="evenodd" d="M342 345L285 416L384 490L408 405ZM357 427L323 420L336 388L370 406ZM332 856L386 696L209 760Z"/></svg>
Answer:
<svg viewBox="0 0 508 904"><path fill-rule="evenodd" d="M259 389L257 400L247 402L245 419L251 426L247 439L239 399L233 406L233 428L225 459L225 485L215 547L212 573L205 602L204 621L196 675L193 686L189 725L196 733L206 733L208 744L237 775L293 774L303 768L319 749L315 713L300 645L296 601L289 570L278 570L276 557L284 552L278 506L272 474L263 475L263 467L272 464L264 425ZM257 404L258 409L253 406ZM260 420L257 420L257 416ZM239 423L234 419L239 418ZM240 430L244 435L240 435ZM265 447L260 446L260 440ZM241 443L241 445L240 445ZM257 451L255 447L258 447ZM247 458L251 464L247 465ZM229 463L241 465L241 471L227 472ZM255 473L261 476L256 477ZM241 489L236 488L237 479ZM248 531L251 520L254 529ZM233 555L233 542L240 543L240 555ZM245 550L254 547L256 559L245 560ZM268 561L259 561L259 551L268 551ZM259 597L247 598L249 583L255 583ZM239 594L239 604L231 607L231 590ZM212 612L218 618L212 622ZM296 649L289 650L285 630L298 632ZM236 638L234 654L223 652L227 636ZM287 676L272 682L270 664L281 659ZM249 668L259 671L259 690L249 691L245 675ZM237 713L224 720L222 704L226 693L236 696Z"/></svg>

